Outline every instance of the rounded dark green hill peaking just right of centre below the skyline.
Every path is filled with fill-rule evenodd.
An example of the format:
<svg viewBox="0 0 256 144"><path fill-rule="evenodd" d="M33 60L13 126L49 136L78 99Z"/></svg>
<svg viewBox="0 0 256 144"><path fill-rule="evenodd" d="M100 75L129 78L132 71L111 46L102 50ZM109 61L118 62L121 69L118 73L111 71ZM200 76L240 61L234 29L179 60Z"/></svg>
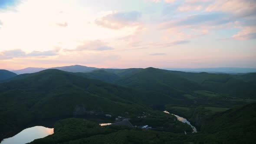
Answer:
<svg viewBox="0 0 256 144"><path fill-rule="evenodd" d="M141 89L156 91L164 94L185 94L203 87L196 82L171 74L167 70L147 68L141 69L131 75L118 79L115 84Z"/></svg>

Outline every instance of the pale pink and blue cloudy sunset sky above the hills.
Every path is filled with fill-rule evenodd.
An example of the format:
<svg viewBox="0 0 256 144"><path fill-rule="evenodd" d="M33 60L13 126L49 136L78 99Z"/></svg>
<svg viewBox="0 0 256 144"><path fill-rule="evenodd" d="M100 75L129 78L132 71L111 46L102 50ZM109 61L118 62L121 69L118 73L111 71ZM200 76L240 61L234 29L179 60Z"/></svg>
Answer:
<svg viewBox="0 0 256 144"><path fill-rule="evenodd" d="M256 0L0 0L0 69L256 68Z"/></svg>

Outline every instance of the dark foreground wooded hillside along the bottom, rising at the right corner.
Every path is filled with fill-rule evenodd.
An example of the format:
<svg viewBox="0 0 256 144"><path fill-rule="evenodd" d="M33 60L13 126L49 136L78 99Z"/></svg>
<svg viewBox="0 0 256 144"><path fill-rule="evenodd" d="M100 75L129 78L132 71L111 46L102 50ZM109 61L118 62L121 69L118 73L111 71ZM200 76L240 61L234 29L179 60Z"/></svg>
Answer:
<svg viewBox="0 0 256 144"><path fill-rule="evenodd" d="M256 140L256 103L207 117L196 134L104 126L84 119L56 122L54 134L30 144L253 144ZM171 123L170 123L171 124Z"/></svg>

